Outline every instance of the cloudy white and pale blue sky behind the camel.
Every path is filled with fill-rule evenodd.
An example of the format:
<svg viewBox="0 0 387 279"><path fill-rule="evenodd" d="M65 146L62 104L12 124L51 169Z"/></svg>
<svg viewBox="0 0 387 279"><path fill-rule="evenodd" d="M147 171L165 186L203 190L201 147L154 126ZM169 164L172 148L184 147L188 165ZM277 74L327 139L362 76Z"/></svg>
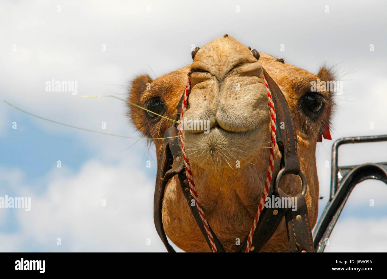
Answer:
<svg viewBox="0 0 387 279"><path fill-rule="evenodd" d="M139 138L125 102L81 96L125 98L135 76L155 78L188 65L193 45L223 34L313 73L322 65L333 67L343 92L336 96L332 141L317 144L320 215L329 197L333 141L387 134L386 6L384 1L3 1L0 97L53 121ZM77 81L77 94L47 91L52 79ZM165 251L153 224L154 146L0 106L0 197L31 197L30 211L0 208L0 251ZM339 165L385 161L387 143L339 150ZM337 251L387 251L384 183L368 180L353 190L325 248Z"/></svg>

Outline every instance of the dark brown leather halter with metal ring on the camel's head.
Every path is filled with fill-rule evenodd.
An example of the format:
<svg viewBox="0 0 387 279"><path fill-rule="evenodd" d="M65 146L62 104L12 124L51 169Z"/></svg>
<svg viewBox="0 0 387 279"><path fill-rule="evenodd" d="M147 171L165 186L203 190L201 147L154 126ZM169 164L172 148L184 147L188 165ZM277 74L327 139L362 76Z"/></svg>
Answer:
<svg viewBox="0 0 387 279"><path fill-rule="evenodd" d="M260 214L257 227L253 234L250 252L260 251L260 249L267 243L267 241L269 241L271 236L274 234L280 222L283 220L283 217L285 217L286 221L286 229L288 231L290 251L314 252L315 250L313 246L312 231L308 217L307 204L304 197L307 189L307 182L304 174L301 172L300 161L298 160L296 129L293 124L288 103L286 102L286 99L281 89L273 81L269 74L267 74L265 69L263 69L263 73L271 90L272 96L274 97L273 103L274 108L276 110L277 145L279 147L279 151L281 152L280 171L277 172L277 174L273 173L273 177L276 177L276 179L272 179L268 196L274 195L275 198L281 199L291 198L291 196L286 195L281 190L281 188L279 188L279 180L282 176L286 174L299 175L301 177L303 189L301 191L302 193L298 193L294 197L297 198L297 210L295 211L292 210L290 205L288 205L288 207L281 208L264 207L262 213ZM176 108L176 121L180 118L183 96ZM281 129L281 121L284 122L283 129ZM197 222L197 225L199 226L199 229L202 232L211 250L211 244L208 239L202 220L200 219L199 211L197 207L191 206L191 201L193 197L191 196L190 188L188 185L180 139L177 136L178 129L176 127L176 122L173 122L172 126L169 127L164 133L165 139L158 161L153 211L156 231L158 232L168 252L175 252L172 246L168 243L168 239L166 237L163 227L161 211L163 207L163 198L166 184L173 176L177 175L183 194L187 200L187 206L190 208ZM214 238L216 250L218 252L224 252L224 248L221 245L219 239L216 237L216 234L212 231L211 227L209 227L209 229ZM240 247L236 250L236 252L245 251L246 246L247 236L240 244Z"/></svg>

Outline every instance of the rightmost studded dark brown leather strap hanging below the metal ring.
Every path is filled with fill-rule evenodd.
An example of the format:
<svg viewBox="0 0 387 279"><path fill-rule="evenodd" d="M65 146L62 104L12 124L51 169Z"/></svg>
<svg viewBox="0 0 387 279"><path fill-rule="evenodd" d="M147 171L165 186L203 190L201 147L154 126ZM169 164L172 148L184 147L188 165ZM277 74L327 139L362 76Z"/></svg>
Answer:
<svg viewBox="0 0 387 279"><path fill-rule="evenodd" d="M297 210L288 210L285 214L290 251L313 253L315 249L307 203L301 193L298 193L295 198L297 199Z"/></svg>

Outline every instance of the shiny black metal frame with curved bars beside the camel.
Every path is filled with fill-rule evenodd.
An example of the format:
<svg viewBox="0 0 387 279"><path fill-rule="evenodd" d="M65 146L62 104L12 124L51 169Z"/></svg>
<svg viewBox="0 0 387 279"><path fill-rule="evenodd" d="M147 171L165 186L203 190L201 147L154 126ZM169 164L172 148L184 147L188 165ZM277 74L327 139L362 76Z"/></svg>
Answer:
<svg viewBox="0 0 387 279"><path fill-rule="evenodd" d="M339 167L339 146L348 143L365 143L387 141L387 135L340 138L332 146L332 172L330 178L330 197L315 229L313 239L316 252L323 252L326 241L332 232L342 208L348 200L353 188L366 179L378 179L387 184L387 162L367 163Z"/></svg>

